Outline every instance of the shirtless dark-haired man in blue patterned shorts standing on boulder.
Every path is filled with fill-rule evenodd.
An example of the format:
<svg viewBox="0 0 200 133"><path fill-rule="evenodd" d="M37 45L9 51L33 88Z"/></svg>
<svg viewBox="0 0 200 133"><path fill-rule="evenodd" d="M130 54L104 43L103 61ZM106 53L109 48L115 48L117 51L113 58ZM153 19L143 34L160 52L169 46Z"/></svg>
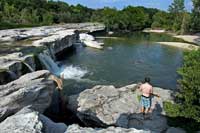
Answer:
<svg viewBox="0 0 200 133"><path fill-rule="evenodd" d="M144 83L143 84L139 84L139 90L142 92L142 96L141 96L141 113L143 113L143 115L150 113L151 110L151 100L153 96L157 96L160 97L157 94L153 93L153 86L150 84L150 78L146 77L144 79Z"/></svg>

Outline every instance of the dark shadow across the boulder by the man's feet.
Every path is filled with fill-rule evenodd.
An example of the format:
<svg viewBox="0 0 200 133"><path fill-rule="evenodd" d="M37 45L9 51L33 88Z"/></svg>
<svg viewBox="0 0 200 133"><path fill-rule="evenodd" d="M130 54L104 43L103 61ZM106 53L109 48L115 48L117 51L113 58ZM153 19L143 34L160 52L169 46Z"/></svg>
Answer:
<svg viewBox="0 0 200 133"><path fill-rule="evenodd" d="M157 102L154 109L145 115L143 113L123 113L119 116L116 126L160 132L167 128L166 118L161 114L162 111L161 105Z"/></svg>

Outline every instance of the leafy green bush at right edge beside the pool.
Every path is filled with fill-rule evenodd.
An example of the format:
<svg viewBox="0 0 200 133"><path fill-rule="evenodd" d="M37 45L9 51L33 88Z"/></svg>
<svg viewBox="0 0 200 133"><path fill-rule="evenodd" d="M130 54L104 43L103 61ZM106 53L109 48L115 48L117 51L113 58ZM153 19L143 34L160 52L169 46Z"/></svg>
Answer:
<svg viewBox="0 0 200 133"><path fill-rule="evenodd" d="M200 122L200 50L186 53L184 65L178 70L182 76L178 98L183 104L182 114Z"/></svg>

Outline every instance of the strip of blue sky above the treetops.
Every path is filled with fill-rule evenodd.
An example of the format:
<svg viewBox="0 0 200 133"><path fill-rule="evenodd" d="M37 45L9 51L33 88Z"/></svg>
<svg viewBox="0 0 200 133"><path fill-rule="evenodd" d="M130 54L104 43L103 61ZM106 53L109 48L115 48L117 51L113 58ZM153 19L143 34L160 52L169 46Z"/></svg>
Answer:
<svg viewBox="0 0 200 133"><path fill-rule="evenodd" d="M103 8L105 6L116 7L122 9L128 5L145 6L150 8L158 8L167 11L173 0L62 0L68 4L81 4L90 8ZM185 7L188 11L192 9L191 0L185 0Z"/></svg>

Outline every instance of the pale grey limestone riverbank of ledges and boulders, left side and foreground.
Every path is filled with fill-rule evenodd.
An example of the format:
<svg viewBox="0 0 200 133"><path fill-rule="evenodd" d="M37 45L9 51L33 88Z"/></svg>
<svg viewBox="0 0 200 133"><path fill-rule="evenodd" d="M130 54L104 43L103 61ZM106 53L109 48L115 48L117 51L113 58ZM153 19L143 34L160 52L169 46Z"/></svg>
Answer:
<svg viewBox="0 0 200 133"><path fill-rule="evenodd" d="M135 84L122 88L99 85L68 99L62 95L54 98L56 91L62 93L51 78L57 74L54 70L59 70L55 63L58 56L80 42L79 32L104 28L102 24L84 23L0 31L1 133L180 131L168 126L163 110L163 102L173 100L169 90L155 88L162 98L153 99L148 119L140 114L140 94ZM55 123L44 115L59 99L86 127Z"/></svg>

